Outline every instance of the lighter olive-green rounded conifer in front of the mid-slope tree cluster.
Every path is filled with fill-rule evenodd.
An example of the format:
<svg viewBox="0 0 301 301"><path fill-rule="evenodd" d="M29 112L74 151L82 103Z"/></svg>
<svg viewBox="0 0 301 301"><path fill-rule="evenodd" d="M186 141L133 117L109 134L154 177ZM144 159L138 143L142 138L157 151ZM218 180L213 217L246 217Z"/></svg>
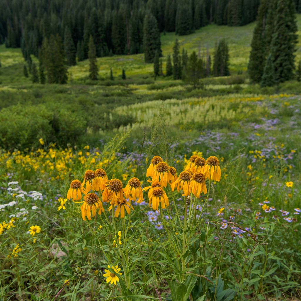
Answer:
<svg viewBox="0 0 301 301"><path fill-rule="evenodd" d="M186 66L184 66L185 82L193 85L195 89L200 79L204 77L204 71L202 59L198 58L196 52L193 51L188 58Z"/></svg>

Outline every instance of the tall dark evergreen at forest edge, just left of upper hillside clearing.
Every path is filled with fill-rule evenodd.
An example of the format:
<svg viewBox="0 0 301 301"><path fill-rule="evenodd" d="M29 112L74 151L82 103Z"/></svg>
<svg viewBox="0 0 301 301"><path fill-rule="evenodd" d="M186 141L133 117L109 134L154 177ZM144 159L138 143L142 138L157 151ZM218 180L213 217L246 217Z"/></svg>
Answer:
<svg viewBox="0 0 301 301"><path fill-rule="evenodd" d="M152 63L154 61L156 51L158 51L159 57L162 55L157 20L152 14L146 14L144 17L143 50L146 63Z"/></svg>

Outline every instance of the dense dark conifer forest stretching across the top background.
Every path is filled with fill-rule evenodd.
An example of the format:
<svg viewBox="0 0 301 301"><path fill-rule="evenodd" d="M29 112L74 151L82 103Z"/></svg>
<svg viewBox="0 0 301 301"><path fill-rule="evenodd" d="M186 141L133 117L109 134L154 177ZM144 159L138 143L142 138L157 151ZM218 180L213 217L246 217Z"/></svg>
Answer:
<svg viewBox="0 0 301 301"><path fill-rule="evenodd" d="M301 9L301 0L295 0ZM44 38L59 34L79 60L90 35L97 57L144 52L145 16L158 32L185 35L206 26L240 26L256 20L259 0L0 0L0 44L38 57ZM298 3L300 2L300 3ZM151 16L152 15L152 16Z"/></svg>

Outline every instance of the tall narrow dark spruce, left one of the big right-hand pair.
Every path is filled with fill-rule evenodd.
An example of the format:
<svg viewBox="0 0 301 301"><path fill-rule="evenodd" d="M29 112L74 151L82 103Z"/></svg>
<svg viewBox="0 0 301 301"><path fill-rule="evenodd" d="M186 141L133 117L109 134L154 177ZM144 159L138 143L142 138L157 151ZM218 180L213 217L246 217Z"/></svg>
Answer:
<svg viewBox="0 0 301 301"><path fill-rule="evenodd" d="M257 24L254 28L253 39L251 42L250 60L248 72L252 82L259 83L262 78L263 69L266 61L266 18L268 14L268 0L261 0Z"/></svg>

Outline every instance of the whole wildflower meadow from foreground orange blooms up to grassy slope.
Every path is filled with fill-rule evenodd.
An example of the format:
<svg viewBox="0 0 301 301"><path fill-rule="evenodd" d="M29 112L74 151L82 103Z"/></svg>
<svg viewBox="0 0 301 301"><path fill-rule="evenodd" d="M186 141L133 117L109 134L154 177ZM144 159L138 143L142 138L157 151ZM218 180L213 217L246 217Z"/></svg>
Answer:
<svg viewBox="0 0 301 301"><path fill-rule="evenodd" d="M236 72L253 27L235 28L232 75L195 90L141 55L99 59L131 60L125 81L93 84L84 61L31 84L0 45L1 300L301 299L301 86Z"/></svg>

